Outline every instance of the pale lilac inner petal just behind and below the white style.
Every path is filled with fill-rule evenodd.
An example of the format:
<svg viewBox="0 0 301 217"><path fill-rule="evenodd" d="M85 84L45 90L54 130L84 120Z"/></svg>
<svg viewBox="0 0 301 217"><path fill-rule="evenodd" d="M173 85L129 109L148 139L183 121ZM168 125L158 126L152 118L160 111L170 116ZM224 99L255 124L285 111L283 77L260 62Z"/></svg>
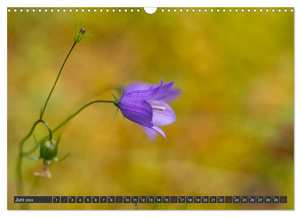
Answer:
<svg viewBox="0 0 301 217"><path fill-rule="evenodd" d="M151 105L163 106L166 108L165 111L159 111L153 109L153 119L152 119L153 125L155 126L167 125L167 124L171 124L176 120L174 110L172 110L172 108L167 103L163 101L153 101L153 100L150 100L148 102Z"/></svg>

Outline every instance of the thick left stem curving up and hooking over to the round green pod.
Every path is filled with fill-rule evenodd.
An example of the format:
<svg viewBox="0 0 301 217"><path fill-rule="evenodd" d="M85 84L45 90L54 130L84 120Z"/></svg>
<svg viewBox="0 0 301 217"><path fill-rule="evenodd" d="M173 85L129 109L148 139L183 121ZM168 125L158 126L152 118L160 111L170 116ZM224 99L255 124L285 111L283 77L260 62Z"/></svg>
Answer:
<svg viewBox="0 0 301 217"><path fill-rule="evenodd" d="M39 119L38 121L34 122L34 124L31 128L31 130L29 131L29 133L24 137L24 139L21 140L20 146L19 146L19 155L18 155L18 161L17 161L17 174L16 174L17 192L18 192L19 196L24 195L23 180L22 180L22 173L21 173L24 143L33 134L33 131L34 131L35 127L40 122L42 122L47 127L47 129L49 131L49 134L50 134L49 139L52 139L52 132L51 132L51 129L50 129L49 125L44 120Z"/></svg>

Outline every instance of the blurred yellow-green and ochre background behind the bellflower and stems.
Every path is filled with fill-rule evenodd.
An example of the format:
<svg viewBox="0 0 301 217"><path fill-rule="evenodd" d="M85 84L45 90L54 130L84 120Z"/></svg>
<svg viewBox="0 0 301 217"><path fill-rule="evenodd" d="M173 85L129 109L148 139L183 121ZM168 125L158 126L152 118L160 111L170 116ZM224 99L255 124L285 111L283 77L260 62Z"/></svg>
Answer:
<svg viewBox="0 0 301 217"><path fill-rule="evenodd" d="M16 193L20 140L39 118L73 44L75 21L93 29L67 61L44 119L54 128L91 100L113 100L134 81L175 80L177 121L150 142L116 107L94 104L60 132L52 178L24 158L26 195L287 196L287 204L188 204L187 209L294 208L294 13L205 8L10 8L7 13L7 208ZM54 9L54 12L50 10ZM103 12L100 12L103 9ZM105 12L109 9L109 12ZM127 9L127 12L124 11ZM112 89L111 89L112 88ZM47 135L38 125L38 139ZM33 138L24 150L34 146ZM34 153L38 156L38 152ZM182 209L157 204L155 209ZM134 209L134 204L30 204L30 209ZM139 204L153 209L153 204Z"/></svg>

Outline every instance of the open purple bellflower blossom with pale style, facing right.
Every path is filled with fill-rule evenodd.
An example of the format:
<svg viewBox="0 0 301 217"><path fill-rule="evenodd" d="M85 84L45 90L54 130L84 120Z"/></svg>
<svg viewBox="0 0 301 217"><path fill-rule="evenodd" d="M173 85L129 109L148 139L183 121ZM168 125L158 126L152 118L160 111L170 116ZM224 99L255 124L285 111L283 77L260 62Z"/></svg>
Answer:
<svg viewBox="0 0 301 217"><path fill-rule="evenodd" d="M174 82L150 85L132 83L124 87L120 99L115 96L115 105L127 119L142 125L149 139L154 140L160 133L166 140L165 133L158 127L171 124L176 120L175 113L167 104L178 98L179 89L174 89ZM117 112L117 111L116 111ZM115 113L116 114L116 113Z"/></svg>

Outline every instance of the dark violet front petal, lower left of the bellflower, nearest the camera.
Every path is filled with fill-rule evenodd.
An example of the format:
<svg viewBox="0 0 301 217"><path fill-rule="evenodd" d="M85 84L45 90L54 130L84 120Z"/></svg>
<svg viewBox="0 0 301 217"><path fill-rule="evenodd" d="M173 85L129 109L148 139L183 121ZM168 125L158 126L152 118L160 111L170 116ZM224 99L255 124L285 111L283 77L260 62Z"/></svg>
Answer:
<svg viewBox="0 0 301 217"><path fill-rule="evenodd" d="M153 109L148 102L125 98L120 100L119 108L127 119L143 126L153 126Z"/></svg>

